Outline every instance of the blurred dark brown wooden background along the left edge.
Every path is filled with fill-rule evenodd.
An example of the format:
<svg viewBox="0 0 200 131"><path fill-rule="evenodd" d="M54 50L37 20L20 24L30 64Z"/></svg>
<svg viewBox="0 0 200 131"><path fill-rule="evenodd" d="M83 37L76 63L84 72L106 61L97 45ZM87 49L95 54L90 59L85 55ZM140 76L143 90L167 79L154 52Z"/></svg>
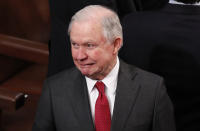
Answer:
<svg viewBox="0 0 200 131"><path fill-rule="evenodd" d="M31 131L49 40L48 0L0 1L1 131Z"/></svg>

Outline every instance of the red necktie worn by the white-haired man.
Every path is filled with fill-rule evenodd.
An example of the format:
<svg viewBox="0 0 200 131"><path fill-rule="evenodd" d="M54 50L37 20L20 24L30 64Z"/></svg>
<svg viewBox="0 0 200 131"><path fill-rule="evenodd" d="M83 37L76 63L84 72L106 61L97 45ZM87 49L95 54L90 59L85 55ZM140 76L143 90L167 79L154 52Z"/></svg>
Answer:
<svg viewBox="0 0 200 131"><path fill-rule="evenodd" d="M95 105L95 127L96 131L110 131L111 116L108 99L104 93L105 85L97 81L95 87L99 91L99 96Z"/></svg>

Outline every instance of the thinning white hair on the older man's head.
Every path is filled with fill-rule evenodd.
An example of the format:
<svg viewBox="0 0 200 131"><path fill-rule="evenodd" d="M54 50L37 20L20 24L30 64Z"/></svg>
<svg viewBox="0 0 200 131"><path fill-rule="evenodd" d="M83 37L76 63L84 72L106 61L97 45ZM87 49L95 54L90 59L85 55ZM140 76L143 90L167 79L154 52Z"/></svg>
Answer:
<svg viewBox="0 0 200 131"><path fill-rule="evenodd" d="M96 19L101 22L103 29L103 35L109 42L113 42L115 38L123 38L122 26L118 15L111 9L101 5L89 5L79 10L74 16L72 16L68 34L70 35L71 26L73 22Z"/></svg>

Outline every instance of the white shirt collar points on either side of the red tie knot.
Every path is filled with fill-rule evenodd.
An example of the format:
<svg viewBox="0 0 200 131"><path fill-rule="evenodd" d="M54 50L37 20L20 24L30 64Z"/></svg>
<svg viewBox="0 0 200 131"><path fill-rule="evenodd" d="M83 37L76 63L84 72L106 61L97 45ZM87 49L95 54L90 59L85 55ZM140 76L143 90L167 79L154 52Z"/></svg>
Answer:
<svg viewBox="0 0 200 131"><path fill-rule="evenodd" d="M115 64L114 68L103 80L101 80L107 87L108 91L111 93L115 93L116 91L118 72L119 72L119 58L117 57L117 63ZM93 90L94 85L96 84L97 80L90 79L86 76L85 76L85 79L86 79L88 91L90 93Z"/></svg>

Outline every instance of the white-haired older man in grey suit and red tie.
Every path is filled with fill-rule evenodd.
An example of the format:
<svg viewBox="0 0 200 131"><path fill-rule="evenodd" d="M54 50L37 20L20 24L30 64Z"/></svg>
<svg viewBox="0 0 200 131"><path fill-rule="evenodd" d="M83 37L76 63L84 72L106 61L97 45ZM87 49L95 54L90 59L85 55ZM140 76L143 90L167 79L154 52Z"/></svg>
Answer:
<svg viewBox="0 0 200 131"><path fill-rule="evenodd" d="M118 58L115 12L92 5L68 29L77 68L45 81L33 131L174 131L163 79Z"/></svg>

